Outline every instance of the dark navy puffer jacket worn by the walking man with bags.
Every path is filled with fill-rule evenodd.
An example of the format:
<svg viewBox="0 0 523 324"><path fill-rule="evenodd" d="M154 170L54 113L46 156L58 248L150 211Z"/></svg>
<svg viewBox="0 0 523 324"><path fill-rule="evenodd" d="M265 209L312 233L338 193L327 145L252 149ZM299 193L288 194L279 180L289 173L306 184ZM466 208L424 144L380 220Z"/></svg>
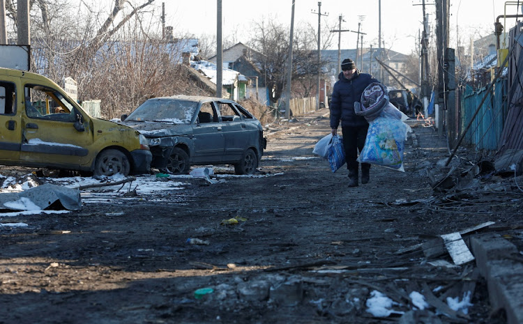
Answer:
<svg viewBox="0 0 523 324"><path fill-rule="evenodd" d="M344 77L343 72L340 72L338 79L338 82L334 84L331 98L331 128L338 128L340 120L342 128L367 125L365 118L354 112L354 102L360 102L361 94L369 84L379 81L360 70L356 70L354 77L350 80Z"/></svg>

